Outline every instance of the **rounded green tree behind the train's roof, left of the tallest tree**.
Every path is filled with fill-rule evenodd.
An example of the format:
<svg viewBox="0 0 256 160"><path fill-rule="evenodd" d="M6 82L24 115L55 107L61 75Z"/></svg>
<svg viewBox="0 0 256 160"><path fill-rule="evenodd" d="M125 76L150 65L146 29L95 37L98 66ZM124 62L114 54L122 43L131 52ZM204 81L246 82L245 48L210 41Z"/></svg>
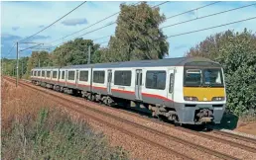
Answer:
<svg viewBox="0 0 256 160"><path fill-rule="evenodd" d="M92 40L75 39L64 43L53 51L53 63L56 66L86 64L88 61L88 46L91 57L95 50L99 48ZM93 62L93 59L91 58Z"/></svg>

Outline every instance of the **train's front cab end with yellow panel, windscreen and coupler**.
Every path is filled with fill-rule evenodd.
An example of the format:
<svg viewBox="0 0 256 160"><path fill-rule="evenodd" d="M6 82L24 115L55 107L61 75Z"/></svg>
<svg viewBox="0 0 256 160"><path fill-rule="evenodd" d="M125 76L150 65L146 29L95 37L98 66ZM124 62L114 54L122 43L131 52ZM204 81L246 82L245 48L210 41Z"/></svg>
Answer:
<svg viewBox="0 0 256 160"><path fill-rule="evenodd" d="M225 104L221 66L213 62L190 62L180 68L182 94L175 108L181 123L220 123Z"/></svg>

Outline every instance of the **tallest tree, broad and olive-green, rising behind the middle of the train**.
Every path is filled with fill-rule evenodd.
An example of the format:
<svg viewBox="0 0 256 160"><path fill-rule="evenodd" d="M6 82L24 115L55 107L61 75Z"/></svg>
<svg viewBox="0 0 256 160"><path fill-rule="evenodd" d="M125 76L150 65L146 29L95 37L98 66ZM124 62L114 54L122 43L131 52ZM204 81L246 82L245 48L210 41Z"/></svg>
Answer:
<svg viewBox="0 0 256 160"><path fill-rule="evenodd" d="M159 8L146 2L120 6L115 36L109 41L109 61L159 59L168 54L168 41L159 29L165 21Z"/></svg>

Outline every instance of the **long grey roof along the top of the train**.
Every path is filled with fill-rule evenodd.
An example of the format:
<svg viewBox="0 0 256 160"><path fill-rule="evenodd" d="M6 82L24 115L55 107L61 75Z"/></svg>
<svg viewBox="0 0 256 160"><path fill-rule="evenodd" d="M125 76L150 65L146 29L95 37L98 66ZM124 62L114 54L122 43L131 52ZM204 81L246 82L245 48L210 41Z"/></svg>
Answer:
<svg viewBox="0 0 256 160"><path fill-rule="evenodd" d="M208 62L207 65L220 67L220 64L210 59L203 57L177 57L177 58L165 58L157 60L134 60L125 62L112 62L112 63L96 63L96 64L81 64L81 65L70 65L62 68L118 68L118 67L158 67L158 66L186 66L196 65L196 62ZM52 67L55 68L55 67ZM37 69L37 68L35 68ZM50 67L41 69L51 69Z"/></svg>

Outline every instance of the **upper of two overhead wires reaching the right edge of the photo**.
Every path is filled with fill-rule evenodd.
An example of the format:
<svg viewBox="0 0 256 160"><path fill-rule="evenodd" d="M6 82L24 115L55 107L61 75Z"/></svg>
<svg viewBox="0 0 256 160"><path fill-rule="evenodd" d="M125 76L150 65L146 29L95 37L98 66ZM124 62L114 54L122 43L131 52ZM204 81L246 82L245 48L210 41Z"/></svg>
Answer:
<svg viewBox="0 0 256 160"><path fill-rule="evenodd" d="M211 17L211 16L220 15L220 14L223 14L223 13L227 13L227 12L231 12L231 11L243 9L243 8L250 7L250 6L254 6L254 5L256 5L256 3L250 4L250 5L246 5L246 6L242 6L242 7L233 8L233 9L226 10L226 11L217 12L217 13L210 14L210 15L206 15L206 16L202 16L202 17L197 17L197 18L194 18L194 19L191 19L191 20L187 20L187 21L183 21L183 22L180 22L180 23L176 23L176 24L164 26L164 27L162 27L162 28L160 28L160 29L165 29L165 28L169 28L169 27L173 27L173 26L177 26L177 25L189 23L189 22L192 22L192 21L196 21L196 20L208 18L208 17Z"/></svg>

